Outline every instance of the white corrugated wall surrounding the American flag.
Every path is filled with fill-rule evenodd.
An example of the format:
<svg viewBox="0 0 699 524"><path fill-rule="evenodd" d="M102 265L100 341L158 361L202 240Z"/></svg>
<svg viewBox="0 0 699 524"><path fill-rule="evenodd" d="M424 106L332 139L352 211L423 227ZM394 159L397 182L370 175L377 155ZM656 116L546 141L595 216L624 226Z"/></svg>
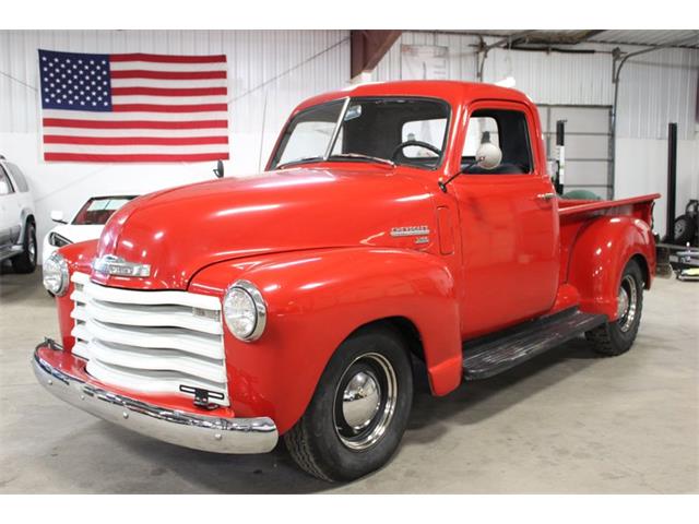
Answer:
<svg viewBox="0 0 699 524"><path fill-rule="evenodd" d="M143 193L205 180L213 177L214 166L45 163L39 151L36 98L38 48L225 53L232 98L226 175L245 175L258 171L260 159L264 166L296 104L348 83L348 36L346 31L0 31L0 154L27 175L36 200L39 236L52 227L51 210L70 214L92 194Z"/></svg>

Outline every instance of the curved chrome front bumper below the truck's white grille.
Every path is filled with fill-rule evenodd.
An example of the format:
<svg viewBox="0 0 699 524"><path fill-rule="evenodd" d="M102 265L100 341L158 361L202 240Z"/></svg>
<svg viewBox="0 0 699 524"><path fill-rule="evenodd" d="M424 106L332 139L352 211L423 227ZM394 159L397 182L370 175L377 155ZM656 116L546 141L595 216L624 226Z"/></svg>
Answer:
<svg viewBox="0 0 699 524"><path fill-rule="evenodd" d="M49 360L62 348L47 340L39 344L32 359L37 380L61 401L72 404L109 422L154 439L194 450L214 453L265 453L279 440L271 418L222 418L156 406L91 384L72 371ZM82 360L71 357L71 360Z"/></svg>

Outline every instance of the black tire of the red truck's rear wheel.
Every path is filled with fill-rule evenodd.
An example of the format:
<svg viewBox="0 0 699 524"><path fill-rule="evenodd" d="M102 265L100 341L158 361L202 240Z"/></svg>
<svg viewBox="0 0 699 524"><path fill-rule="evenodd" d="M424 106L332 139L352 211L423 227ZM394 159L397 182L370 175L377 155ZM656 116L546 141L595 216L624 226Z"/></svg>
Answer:
<svg viewBox="0 0 699 524"><path fill-rule="evenodd" d="M631 289L633 286L633 289ZM623 289L625 289L623 291ZM638 262L629 261L624 269L619 282L619 296L626 293L629 297L629 307L625 308L625 314L614 322L607 322L585 333L588 341L592 343L595 352L607 357L614 357L628 352L633 345L643 311L643 273ZM635 298L631 296L636 294ZM633 308L631 310L631 308Z"/></svg>

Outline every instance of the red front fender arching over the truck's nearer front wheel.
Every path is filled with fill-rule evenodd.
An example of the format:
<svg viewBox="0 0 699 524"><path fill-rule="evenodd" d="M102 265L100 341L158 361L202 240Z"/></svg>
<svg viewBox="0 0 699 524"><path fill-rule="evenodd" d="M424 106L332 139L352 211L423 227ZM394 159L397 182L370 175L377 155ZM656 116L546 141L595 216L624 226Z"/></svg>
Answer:
<svg viewBox="0 0 699 524"><path fill-rule="evenodd" d="M280 253L206 267L190 290L223 294L237 278L254 283L268 306L258 341L240 342L225 330L230 398L239 416L269 416L280 432L288 430L337 346L357 327L388 317L416 326L436 394L461 381L454 282L431 254L379 248Z"/></svg>

